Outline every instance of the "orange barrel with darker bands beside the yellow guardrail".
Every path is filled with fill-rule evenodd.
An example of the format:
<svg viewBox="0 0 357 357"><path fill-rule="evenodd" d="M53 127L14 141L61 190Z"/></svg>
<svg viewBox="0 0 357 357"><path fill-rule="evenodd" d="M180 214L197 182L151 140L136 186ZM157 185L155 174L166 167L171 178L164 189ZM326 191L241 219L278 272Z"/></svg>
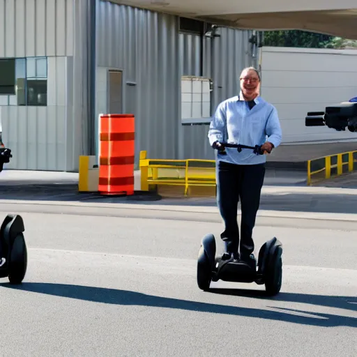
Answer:
<svg viewBox="0 0 357 357"><path fill-rule="evenodd" d="M102 195L134 195L135 116L100 116L98 191Z"/></svg>

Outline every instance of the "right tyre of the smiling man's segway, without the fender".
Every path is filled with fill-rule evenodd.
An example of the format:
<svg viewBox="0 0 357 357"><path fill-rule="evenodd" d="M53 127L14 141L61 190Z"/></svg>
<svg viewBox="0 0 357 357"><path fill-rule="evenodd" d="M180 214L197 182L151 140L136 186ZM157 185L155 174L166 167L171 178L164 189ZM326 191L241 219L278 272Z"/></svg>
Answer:
<svg viewBox="0 0 357 357"><path fill-rule="evenodd" d="M266 294L275 296L279 294L282 287L282 257L280 246L275 248L270 259L270 264L266 267L265 289Z"/></svg>

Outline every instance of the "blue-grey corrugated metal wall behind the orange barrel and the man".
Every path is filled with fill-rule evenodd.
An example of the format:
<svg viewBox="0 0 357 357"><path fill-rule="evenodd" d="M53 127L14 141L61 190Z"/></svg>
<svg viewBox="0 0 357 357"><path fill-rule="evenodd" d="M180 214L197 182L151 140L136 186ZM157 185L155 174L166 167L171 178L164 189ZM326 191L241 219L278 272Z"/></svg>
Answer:
<svg viewBox="0 0 357 357"><path fill-rule="evenodd" d="M179 33L178 17L97 0L96 116L107 110L107 70L122 70L123 112L136 120L136 161L140 150L155 158L209 156L208 126L181 125L181 75L212 77L215 108L237 93L241 69L254 63L250 33L220 29L213 52L205 38L201 73L201 40Z"/></svg>

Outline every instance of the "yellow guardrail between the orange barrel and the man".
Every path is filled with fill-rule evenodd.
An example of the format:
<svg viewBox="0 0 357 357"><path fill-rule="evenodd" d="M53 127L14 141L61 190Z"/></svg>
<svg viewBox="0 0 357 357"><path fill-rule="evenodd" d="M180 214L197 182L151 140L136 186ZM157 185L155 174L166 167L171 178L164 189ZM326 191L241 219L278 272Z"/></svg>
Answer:
<svg viewBox="0 0 357 357"><path fill-rule="evenodd" d="M215 186L215 160L148 159L140 151L139 167L143 191L150 185L180 185L186 196L190 186Z"/></svg>

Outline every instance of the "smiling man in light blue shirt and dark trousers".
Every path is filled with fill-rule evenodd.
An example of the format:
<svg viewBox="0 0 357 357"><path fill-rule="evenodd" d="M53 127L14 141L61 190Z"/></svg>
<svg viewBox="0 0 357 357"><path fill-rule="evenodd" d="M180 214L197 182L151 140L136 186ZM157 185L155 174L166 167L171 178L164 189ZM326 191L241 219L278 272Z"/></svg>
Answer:
<svg viewBox="0 0 357 357"><path fill-rule="evenodd" d="M222 155L220 142L261 145L264 153L268 154L280 145L282 130L277 109L259 96L259 72L253 67L245 68L240 84L238 96L218 105L208 130L208 139L213 149L217 149L217 204L225 224L221 234L225 242L222 259L241 259L256 266L252 231L264 183L266 155L256 155L250 149L242 149L239 153L232 148L225 148L227 154ZM241 239L237 222L239 201Z"/></svg>

